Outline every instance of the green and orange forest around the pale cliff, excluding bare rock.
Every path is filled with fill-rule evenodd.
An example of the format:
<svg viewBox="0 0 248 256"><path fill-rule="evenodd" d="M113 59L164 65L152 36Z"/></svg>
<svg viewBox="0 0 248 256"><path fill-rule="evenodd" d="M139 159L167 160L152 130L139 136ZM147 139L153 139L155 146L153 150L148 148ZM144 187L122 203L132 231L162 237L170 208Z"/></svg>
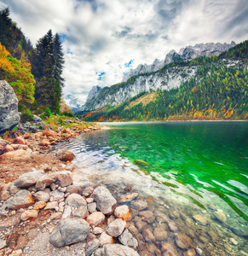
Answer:
<svg viewBox="0 0 248 256"><path fill-rule="evenodd" d="M247 44L248 41L238 44L218 57L201 56L192 61L172 62L159 69L159 73L165 74L170 67L196 67L197 71L179 88L142 92L116 107L106 105L87 113L84 119L248 119ZM136 79L137 76L130 78ZM127 83L114 85L109 91ZM149 97L154 93L155 97ZM139 100L141 97L151 100L144 104Z"/></svg>

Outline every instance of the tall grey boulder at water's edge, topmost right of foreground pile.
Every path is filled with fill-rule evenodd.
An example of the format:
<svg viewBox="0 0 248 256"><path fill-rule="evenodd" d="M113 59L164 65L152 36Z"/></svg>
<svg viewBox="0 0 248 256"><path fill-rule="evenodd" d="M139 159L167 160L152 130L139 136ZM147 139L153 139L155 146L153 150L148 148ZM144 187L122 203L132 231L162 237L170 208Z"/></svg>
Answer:
<svg viewBox="0 0 248 256"><path fill-rule="evenodd" d="M109 190L103 186L94 189L90 197L95 200L97 209L103 214L111 214L117 206L115 198L111 195Z"/></svg>

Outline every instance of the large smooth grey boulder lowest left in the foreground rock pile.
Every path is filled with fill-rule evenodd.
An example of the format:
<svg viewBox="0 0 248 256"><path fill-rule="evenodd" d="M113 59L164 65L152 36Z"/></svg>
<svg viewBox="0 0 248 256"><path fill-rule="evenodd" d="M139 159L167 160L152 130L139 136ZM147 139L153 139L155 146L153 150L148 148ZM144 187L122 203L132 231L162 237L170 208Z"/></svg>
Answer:
<svg viewBox="0 0 248 256"><path fill-rule="evenodd" d="M49 237L55 247L64 247L78 241L84 241L89 235L89 224L83 219L62 219L60 225Z"/></svg>

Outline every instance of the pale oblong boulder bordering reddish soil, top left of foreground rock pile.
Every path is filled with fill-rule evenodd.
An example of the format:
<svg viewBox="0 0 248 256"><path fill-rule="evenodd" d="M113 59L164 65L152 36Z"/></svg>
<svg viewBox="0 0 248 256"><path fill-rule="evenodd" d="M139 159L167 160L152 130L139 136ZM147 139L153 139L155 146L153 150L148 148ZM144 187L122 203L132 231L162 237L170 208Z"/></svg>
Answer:
<svg viewBox="0 0 248 256"><path fill-rule="evenodd" d="M20 175L20 177L14 182L14 185L19 188L30 187L37 183L40 177L43 177L43 172L33 171L25 172Z"/></svg>

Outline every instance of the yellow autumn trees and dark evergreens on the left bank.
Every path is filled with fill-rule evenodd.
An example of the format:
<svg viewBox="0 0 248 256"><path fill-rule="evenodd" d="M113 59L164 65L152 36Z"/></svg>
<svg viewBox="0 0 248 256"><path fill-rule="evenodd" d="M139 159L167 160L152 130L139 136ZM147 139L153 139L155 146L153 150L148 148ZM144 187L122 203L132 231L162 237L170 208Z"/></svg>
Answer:
<svg viewBox="0 0 248 256"><path fill-rule="evenodd" d="M33 47L9 17L9 8L0 10L0 79L14 88L20 112L60 112L63 64L58 33L49 30Z"/></svg>

